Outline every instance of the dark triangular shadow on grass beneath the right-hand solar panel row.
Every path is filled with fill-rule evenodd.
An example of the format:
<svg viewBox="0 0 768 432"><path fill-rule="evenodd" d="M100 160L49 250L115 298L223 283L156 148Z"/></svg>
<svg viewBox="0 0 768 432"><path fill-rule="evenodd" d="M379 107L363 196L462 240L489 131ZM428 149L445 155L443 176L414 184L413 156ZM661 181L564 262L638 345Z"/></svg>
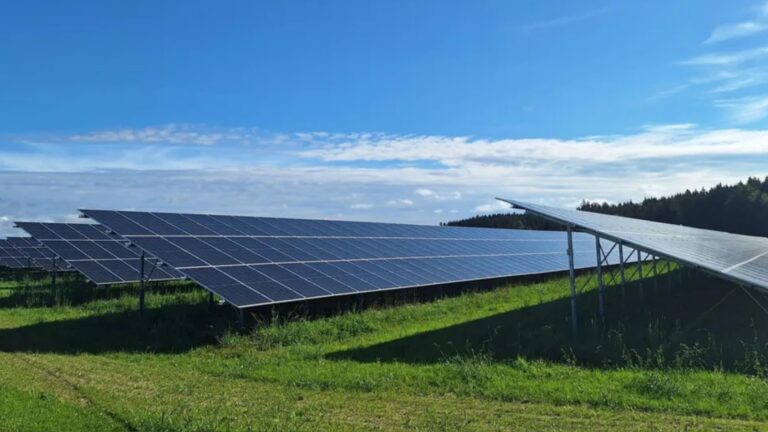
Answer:
<svg viewBox="0 0 768 432"><path fill-rule="evenodd" d="M606 318L596 291L579 295L579 335L570 335L570 299L332 353L360 362L438 363L482 356L492 362L544 359L587 367L720 367L764 374L766 314L741 289L703 276L669 289L646 280L606 293ZM641 291L644 296L641 296ZM717 305L717 306L715 306ZM713 306L715 306L713 308Z"/></svg>

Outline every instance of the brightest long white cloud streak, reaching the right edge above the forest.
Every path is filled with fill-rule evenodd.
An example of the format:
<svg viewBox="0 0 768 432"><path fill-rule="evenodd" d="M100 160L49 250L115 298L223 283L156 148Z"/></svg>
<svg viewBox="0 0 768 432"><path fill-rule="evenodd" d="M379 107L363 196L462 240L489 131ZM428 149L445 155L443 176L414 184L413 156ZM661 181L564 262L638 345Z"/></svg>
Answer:
<svg viewBox="0 0 768 432"><path fill-rule="evenodd" d="M483 175L482 169L508 164L514 175L553 163L626 162L767 151L768 131L707 131L686 124L651 127L634 135L575 140L385 136L361 142L324 143L299 154L324 161L437 161L446 167L477 170L478 175ZM426 191L417 194L435 195L426 195ZM452 196L461 198L458 193Z"/></svg>

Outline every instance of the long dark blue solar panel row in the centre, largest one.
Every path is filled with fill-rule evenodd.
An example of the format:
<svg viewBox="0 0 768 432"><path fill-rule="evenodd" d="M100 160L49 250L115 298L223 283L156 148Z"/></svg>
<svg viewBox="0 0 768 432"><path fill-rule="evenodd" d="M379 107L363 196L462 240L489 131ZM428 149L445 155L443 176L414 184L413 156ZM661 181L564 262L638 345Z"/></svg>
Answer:
<svg viewBox="0 0 768 432"><path fill-rule="evenodd" d="M237 307L568 268L563 232L81 211Z"/></svg>

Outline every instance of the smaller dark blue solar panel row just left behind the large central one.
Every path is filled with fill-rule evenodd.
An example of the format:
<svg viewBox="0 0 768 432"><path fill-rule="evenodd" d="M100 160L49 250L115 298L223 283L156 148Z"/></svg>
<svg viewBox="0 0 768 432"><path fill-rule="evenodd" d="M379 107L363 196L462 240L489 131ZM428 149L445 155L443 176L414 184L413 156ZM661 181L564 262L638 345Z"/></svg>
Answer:
<svg viewBox="0 0 768 432"><path fill-rule="evenodd" d="M139 280L141 251L128 247L126 240L108 234L101 225L16 222L58 257L65 260L92 282L100 285ZM181 279L176 270L156 266L147 258L145 277L151 280Z"/></svg>

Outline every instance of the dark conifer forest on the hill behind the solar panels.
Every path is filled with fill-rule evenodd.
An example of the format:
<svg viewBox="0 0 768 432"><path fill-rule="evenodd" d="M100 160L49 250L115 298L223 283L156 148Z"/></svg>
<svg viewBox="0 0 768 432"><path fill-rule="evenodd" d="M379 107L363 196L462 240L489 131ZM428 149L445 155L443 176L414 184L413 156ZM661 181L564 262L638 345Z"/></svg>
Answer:
<svg viewBox="0 0 768 432"><path fill-rule="evenodd" d="M750 177L735 185L686 190L662 198L619 204L583 202L580 210L688 225L739 234L768 236L768 177ZM479 215L447 222L449 226L487 228L562 229L526 214Z"/></svg>

